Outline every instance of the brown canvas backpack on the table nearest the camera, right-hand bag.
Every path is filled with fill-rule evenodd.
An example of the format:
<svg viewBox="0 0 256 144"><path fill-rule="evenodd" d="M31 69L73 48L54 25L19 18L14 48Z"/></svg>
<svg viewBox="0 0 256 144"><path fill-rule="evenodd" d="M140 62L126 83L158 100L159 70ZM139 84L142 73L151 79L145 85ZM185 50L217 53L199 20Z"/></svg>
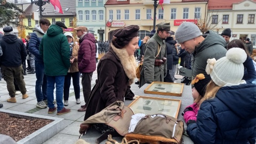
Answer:
<svg viewBox="0 0 256 144"><path fill-rule="evenodd" d="M141 119L135 127L133 134L158 136L175 140L176 143L181 143L182 134L184 132L183 122L178 121L172 116L163 115L164 117L161 117L156 115L146 115ZM151 116L155 117L153 118Z"/></svg>

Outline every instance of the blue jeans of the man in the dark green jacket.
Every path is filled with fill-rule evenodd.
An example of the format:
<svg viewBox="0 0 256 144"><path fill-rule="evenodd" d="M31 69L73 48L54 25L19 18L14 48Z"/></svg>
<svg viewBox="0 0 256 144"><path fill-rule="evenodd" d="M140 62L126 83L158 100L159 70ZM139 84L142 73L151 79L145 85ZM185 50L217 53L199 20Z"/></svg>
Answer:
<svg viewBox="0 0 256 144"><path fill-rule="evenodd" d="M63 85L64 85L65 76L47 76L47 101L48 107L54 108L54 85L56 84L56 102L57 102L57 111L63 109Z"/></svg>

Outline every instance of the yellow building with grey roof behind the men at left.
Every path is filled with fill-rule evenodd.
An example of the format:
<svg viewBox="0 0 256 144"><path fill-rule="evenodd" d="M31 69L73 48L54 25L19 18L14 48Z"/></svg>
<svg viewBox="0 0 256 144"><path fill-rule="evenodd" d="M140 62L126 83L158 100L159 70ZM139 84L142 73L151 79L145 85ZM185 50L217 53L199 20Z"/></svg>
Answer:
<svg viewBox="0 0 256 144"><path fill-rule="evenodd" d="M69 0L62 0L60 1L60 4L63 14L56 12L53 5L50 3L43 6L43 9L45 9L42 12L42 17L49 19L51 24L55 24L56 21L62 21L68 27L68 29L66 29L65 31L69 31L70 33L72 33L72 22L74 20L74 17L76 17L76 4L70 3ZM33 12L39 12L39 7L35 4L30 4L30 6L28 6L28 8L25 10L24 14L26 16L24 24L31 28L34 28L35 25L39 24L38 20L33 20ZM26 30L26 35L29 35L32 32L33 30Z"/></svg>

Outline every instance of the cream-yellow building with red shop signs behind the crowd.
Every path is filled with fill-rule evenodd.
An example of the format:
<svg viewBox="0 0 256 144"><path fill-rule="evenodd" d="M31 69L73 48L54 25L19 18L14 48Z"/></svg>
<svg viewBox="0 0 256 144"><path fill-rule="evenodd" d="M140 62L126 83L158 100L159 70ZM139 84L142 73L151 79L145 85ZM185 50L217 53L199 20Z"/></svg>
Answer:
<svg viewBox="0 0 256 144"><path fill-rule="evenodd" d="M139 36L144 38L153 30L154 1L151 0L108 0L106 2L106 39L110 40L115 29L138 25ZM164 9L164 10L163 10ZM171 0L170 4L158 5L156 24L170 22L171 30L176 31L183 21L195 22L195 18L205 17L205 0ZM111 26L110 26L111 23ZM157 27L156 27L157 29Z"/></svg>

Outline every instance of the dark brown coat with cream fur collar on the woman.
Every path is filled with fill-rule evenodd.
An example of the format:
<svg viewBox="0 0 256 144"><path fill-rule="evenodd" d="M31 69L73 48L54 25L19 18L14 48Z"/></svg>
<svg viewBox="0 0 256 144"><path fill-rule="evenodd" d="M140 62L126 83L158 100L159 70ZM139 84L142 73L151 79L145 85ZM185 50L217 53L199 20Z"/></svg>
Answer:
<svg viewBox="0 0 256 144"><path fill-rule="evenodd" d="M124 101L130 91L136 69L133 55L128 55L126 49L117 49L112 44L109 51L100 59L97 67L98 80L92 89L87 102L84 121L99 113L115 101Z"/></svg>

